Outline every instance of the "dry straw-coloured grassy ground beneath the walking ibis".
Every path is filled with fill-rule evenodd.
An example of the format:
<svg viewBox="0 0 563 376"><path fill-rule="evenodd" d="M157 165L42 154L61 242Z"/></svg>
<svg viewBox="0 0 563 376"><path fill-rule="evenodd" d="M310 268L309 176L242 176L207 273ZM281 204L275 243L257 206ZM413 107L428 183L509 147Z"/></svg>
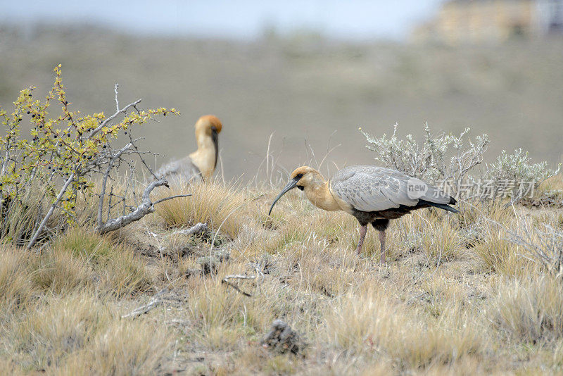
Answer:
<svg viewBox="0 0 563 376"><path fill-rule="evenodd" d="M355 255L355 219L313 208L301 192L267 217L277 189L207 182L120 234L100 236L86 221L41 249L5 244L0 372L563 371L561 275L510 241L526 223L563 231L556 209L418 211L391 225L389 263L379 265L373 231ZM553 189L559 176L537 195ZM175 234L203 221L210 232ZM228 275L254 279L230 280L239 292ZM153 296L156 308L121 317ZM305 342L298 354L260 345L276 318Z"/></svg>

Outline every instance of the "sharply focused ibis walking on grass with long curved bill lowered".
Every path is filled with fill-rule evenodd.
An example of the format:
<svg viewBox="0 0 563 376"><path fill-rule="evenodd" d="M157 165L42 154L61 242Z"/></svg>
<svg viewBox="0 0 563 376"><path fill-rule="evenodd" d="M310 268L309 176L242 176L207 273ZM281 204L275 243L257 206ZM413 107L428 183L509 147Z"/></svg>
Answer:
<svg viewBox="0 0 563 376"><path fill-rule="evenodd" d="M268 215L281 196L295 187L305 192L317 208L345 211L358 219L361 225L358 254L362 251L367 225L371 223L379 231L381 263L385 263L385 230L389 220L429 207L459 213L448 206L456 203L452 196L422 180L389 168L353 165L339 170L329 181L314 168L297 168L272 203Z"/></svg>

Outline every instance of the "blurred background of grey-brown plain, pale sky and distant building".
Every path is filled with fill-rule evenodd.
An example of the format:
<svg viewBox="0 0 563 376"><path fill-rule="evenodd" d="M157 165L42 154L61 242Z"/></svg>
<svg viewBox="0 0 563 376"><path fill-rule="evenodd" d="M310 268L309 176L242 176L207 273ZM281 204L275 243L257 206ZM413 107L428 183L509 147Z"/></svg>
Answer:
<svg viewBox="0 0 563 376"><path fill-rule="evenodd" d="M358 127L395 123L486 132L489 161L518 147L562 161L563 0L1 0L0 105L44 96L58 63L74 109L113 113L118 82L121 105L182 112L136 132L156 165L217 115L227 179L256 175L272 133L289 170L334 146L324 173L372 163Z"/></svg>

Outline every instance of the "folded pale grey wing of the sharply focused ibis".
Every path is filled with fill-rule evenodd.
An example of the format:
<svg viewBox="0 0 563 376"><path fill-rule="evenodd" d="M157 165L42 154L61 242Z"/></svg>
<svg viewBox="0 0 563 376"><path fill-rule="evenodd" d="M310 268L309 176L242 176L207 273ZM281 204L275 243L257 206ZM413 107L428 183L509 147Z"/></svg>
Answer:
<svg viewBox="0 0 563 376"><path fill-rule="evenodd" d="M409 195L409 185L425 184L400 171L372 165L355 165L343 168L331 178L331 189L340 199L359 211L383 211L399 206L416 206L419 199ZM448 203L450 196L436 187L427 185L428 191L420 197L435 203ZM435 197L436 196L436 197ZM413 198L411 198L413 197ZM447 199L446 199L447 198Z"/></svg>

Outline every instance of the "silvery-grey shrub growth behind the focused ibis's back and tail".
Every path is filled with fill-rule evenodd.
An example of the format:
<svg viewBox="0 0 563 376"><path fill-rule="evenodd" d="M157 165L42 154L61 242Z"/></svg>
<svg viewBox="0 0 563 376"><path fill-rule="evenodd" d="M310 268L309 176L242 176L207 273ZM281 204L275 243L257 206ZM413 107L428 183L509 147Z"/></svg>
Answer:
<svg viewBox="0 0 563 376"><path fill-rule="evenodd" d="M474 167L483 161L489 139L480 134L469 139L469 128L460 135L441 133L432 136L428 124L424 127L424 141L417 142L412 134L397 137L395 125L391 137L374 137L360 128L367 139L367 149L376 153L375 159L386 168L402 171L426 182L438 184L446 192L464 199L495 200L510 197L512 203L531 196L541 182L557 175L547 162L532 163L527 151L517 149L512 154L502 151L486 172L475 173Z"/></svg>

